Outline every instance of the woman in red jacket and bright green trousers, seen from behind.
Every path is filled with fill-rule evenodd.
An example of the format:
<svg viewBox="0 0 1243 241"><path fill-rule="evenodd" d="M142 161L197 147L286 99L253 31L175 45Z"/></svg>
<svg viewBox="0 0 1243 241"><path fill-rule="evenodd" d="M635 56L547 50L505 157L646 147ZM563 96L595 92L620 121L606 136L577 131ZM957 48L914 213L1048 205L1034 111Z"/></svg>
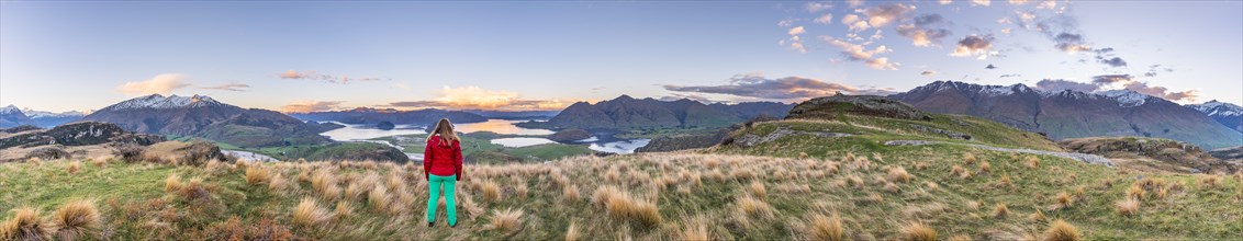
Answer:
<svg viewBox="0 0 1243 241"><path fill-rule="evenodd" d="M457 226L457 210L454 205L454 185L461 180L462 148L457 142L449 119L440 119L436 128L428 133L428 147L423 150L423 176L428 180L428 226L436 224L436 201L440 189L445 190L445 211L449 214L449 227Z"/></svg>

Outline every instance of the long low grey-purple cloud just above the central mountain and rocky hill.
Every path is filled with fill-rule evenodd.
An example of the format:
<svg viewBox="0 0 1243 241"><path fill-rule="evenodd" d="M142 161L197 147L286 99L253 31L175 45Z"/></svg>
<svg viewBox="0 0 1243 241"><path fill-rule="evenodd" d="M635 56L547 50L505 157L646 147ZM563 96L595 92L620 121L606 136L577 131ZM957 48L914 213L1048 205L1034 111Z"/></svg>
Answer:
<svg viewBox="0 0 1243 241"><path fill-rule="evenodd" d="M730 78L728 84L722 86L664 86L674 92L696 92L730 94L740 97L755 97L766 99L807 99L814 97L832 96L838 92L849 94L889 94L890 89L856 88L840 83L829 83L815 78L783 77L764 78L761 75L737 75Z"/></svg>

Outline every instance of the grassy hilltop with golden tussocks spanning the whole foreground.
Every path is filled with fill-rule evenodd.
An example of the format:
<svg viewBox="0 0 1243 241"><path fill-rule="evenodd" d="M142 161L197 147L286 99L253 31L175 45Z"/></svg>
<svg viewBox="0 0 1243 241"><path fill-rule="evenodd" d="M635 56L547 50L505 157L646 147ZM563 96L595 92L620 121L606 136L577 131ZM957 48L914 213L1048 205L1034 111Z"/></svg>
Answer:
<svg viewBox="0 0 1243 241"><path fill-rule="evenodd" d="M778 130L794 134L740 144ZM978 118L840 114L761 122L732 133L732 142L677 153L467 165L455 229L443 211L435 227L423 221L426 184L414 164L193 166L108 157L4 163L0 210L10 211L0 215L0 236L1222 240L1243 234L1243 174L1142 173L960 145L1062 150L1035 133Z"/></svg>

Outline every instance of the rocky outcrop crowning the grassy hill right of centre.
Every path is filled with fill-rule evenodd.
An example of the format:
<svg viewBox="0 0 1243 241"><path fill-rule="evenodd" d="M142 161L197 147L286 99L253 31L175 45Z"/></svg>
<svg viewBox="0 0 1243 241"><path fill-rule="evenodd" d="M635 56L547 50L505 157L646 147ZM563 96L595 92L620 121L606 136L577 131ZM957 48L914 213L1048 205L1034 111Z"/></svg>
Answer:
<svg viewBox="0 0 1243 241"><path fill-rule="evenodd" d="M794 106L786 119L837 119L839 114L859 114L895 119L931 120L932 116L880 96L837 94L805 101Z"/></svg>

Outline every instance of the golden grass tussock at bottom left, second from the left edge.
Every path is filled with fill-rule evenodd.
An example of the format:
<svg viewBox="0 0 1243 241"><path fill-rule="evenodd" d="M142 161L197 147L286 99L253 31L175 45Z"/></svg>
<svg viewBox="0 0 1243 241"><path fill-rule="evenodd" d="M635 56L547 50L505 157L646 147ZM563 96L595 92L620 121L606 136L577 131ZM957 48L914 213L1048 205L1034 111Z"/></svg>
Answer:
<svg viewBox="0 0 1243 241"><path fill-rule="evenodd" d="M99 210L88 200L70 201L52 214L57 240L96 239L101 222Z"/></svg>

